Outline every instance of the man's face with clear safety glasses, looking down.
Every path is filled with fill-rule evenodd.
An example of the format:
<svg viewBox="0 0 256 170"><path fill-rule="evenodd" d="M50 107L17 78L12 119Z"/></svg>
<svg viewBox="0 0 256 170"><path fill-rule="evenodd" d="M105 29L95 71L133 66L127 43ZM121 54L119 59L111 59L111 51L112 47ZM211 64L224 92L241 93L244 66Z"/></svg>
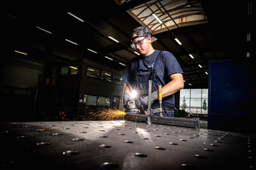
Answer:
<svg viewBox="0 0 256 170"><path fill-rule="evenodd" d="M135 49L139 54L147 56L151 37L137 37L132 42L135 44Z"/></svg>

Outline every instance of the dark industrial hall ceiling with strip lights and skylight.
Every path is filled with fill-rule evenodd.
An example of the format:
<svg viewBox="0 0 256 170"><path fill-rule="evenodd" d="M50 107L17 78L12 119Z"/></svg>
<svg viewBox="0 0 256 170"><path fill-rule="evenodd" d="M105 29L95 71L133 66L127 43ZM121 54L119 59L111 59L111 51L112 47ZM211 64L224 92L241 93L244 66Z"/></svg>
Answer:
<svg viewBox="0 0 256 170"><path fill-rule="evenodd" d="M148 26L158 38L154 48L177 58L185 88L207 88L209 61L253 57L254 6L220 0L11 2L3 32L9 53L50 63L85 58L123 71L138 56L131 31Z"/></svg>

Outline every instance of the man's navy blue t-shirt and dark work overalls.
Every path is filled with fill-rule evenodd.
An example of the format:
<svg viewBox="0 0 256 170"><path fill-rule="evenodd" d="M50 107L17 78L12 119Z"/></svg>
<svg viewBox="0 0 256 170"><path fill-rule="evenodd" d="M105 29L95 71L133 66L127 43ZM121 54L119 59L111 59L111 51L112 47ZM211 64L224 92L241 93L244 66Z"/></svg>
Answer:
<svg viewBox="0 0 256 170"><path fill-rule="evenodd" d="M156 61L158 55L160 58ZM156 65L154 65L156 63ZM157 85L164 87L170 82L170 75L174 73L183 73L177 59L172 53L167 51L155 50L152 54L143 57L138 56L131 59L125 72L124 82L132 89L143 90L148 89L148 80L151 77L152 68L155 69L155 81L152 82L153 90L156 90ZM137 75L137 76L135 76ZM174 107L174 95L163 98L162 105ZM153 105L158 105L155 100Z"/></svg>

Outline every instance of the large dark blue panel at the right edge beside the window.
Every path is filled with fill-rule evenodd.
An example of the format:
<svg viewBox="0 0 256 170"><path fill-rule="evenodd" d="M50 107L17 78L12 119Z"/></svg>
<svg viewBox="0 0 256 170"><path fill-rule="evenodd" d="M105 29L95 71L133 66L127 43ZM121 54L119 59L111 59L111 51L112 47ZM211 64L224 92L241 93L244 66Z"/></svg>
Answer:
<svg viewBox="0 0 256 170"><path fill-rule="evenodd" d="M253 59L209 62L208 128L253 133L255 72Z"/></svg>

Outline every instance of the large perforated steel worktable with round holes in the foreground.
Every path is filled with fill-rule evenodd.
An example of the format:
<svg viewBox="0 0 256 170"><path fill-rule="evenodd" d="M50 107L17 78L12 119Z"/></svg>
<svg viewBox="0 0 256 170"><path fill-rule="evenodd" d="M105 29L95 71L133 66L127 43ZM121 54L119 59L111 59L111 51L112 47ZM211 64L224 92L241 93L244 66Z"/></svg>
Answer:
<svg viewBox="0 0 256 170"><path fill-rule="evenodd" d="M253 169L255 140L135 121L8 122L0 162L2 169Z"/></svg>

